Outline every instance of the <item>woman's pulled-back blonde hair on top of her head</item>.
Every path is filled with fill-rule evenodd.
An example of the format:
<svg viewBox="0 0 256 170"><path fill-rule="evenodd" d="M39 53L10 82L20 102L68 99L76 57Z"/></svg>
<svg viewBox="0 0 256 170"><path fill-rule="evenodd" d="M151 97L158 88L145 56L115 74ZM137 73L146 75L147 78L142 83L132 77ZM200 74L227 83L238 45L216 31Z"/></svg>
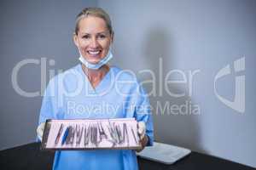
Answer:
<svg viewBox="0 0 256 170"><path fill-rule="evenodd" d="M101 18L105 21L106 26L110 34L113 34L113 28L111 24L110 17L108 13L106 13L102 8L84 8L76 18L76 27L75 27L75 34L78 35L79 32L79 21L82 20L84 17L87 16L96 16Z"/></svg>

